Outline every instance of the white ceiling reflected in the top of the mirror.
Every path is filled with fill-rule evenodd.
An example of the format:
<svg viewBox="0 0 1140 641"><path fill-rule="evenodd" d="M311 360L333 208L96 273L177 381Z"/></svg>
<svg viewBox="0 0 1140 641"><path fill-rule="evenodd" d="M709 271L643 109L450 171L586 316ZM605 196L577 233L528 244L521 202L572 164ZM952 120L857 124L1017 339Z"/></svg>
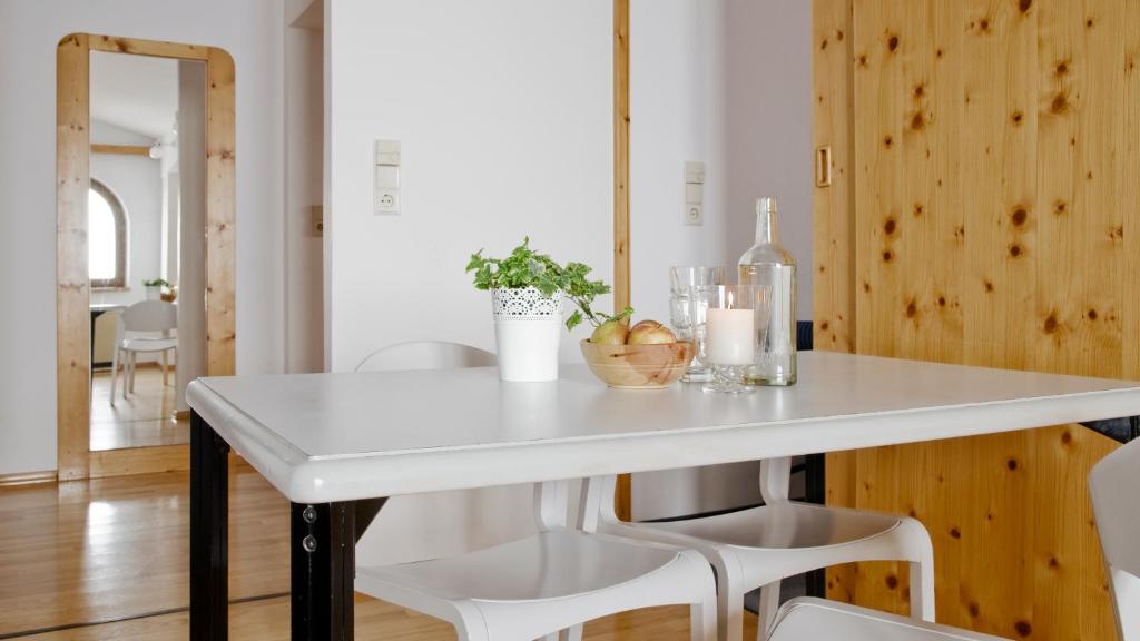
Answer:
<svg viewBox="0 0 1140 641"><path fill-rule="evenodd" d="M91 51L91 120L155 140L178 113L178 60Z"/></svg>

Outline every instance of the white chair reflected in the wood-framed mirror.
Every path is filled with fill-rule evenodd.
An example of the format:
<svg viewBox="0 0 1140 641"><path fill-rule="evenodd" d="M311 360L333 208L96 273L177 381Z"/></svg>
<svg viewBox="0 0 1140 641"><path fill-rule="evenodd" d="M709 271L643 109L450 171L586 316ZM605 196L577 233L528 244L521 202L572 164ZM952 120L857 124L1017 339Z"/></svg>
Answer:
<svg viewBox="0 0 1140 641"><path fill-rule="evenodd" d="M178 328L178 307L161 300L146 300L128 307L119 316L115 325L115 354L111 362L111 404L115 404L115 386L119 382L120 356L123 357L123 398L135 392L135 366L139 354L162 354L162 384L169 380L168 355L178 356L178 336L171 332Z"/></svg>

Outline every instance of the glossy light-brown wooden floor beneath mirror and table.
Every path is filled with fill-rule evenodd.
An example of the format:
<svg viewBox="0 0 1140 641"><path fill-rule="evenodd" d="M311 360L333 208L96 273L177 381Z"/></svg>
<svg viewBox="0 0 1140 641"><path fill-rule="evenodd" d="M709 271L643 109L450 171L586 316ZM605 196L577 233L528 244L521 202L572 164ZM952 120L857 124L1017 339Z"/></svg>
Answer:
<svg viewBox="0 0 1140 641"><path fill-rule="evenodd" d="M230 638L288 638L287 502L255 471L230 482ZM185 640L186 472L0 488L0 639ZM748 615L746 615L748 616ZM746 639L755 638L748 616ZM450 626L357 597L357 639L454 639ZM592 622L593 640L687 640L685 607Z"/></svg>

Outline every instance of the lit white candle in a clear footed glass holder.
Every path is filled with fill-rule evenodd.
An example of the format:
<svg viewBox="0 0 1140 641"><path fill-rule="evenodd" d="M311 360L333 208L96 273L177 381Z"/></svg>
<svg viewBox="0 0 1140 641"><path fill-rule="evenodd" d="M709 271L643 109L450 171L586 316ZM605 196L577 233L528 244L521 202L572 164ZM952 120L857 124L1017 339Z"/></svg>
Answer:
<svg viewBox="0 0 1140 641"><path fill-rule="evenodd" d="M705 391L747 393L746 375L756 363L758 316L767 316L771 287L757 285L718 285L706 311L706 360L712 380Z"/></svg>

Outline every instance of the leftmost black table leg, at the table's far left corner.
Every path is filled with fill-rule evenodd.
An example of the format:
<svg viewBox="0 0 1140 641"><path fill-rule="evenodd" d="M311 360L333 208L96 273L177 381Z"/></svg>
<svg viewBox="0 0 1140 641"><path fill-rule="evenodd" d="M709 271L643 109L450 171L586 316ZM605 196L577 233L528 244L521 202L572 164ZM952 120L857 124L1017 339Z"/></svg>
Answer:
<svg viewBox="0 0 1140 641"><path fill-rule="evenodd" d="M229 635L229 445L190 412L190 640Z"/></svg>

